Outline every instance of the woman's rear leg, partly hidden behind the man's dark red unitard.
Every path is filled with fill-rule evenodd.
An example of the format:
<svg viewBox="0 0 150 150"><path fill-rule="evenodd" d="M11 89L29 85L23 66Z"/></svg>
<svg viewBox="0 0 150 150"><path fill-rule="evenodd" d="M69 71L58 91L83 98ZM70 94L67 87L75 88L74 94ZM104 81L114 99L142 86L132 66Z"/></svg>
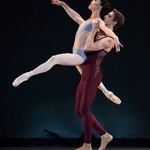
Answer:
<svg viewBox="0 0 150 150"><path fill-rule="evenodd" d="M76 68L78 72L82 75L81 67L76 66ZM98 89L100 89L104 93L104 95L113 103L118 104L118 105L121 104L120 98L117 97L112 91L109 91L102 82L99 84Z"/></svg>

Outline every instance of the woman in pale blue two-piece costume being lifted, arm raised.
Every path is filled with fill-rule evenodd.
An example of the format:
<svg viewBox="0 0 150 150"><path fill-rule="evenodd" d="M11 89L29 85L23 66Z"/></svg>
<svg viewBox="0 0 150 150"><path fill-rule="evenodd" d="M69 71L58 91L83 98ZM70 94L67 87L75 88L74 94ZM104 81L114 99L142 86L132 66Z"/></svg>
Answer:
<svg viewBox="0 0 150 150"><path fill-rule="evenodd" d="M89 35L91 29L92 29L92 20L100 17L100 11L102 9L106 9L109 7L109 2L107 0L94 0L91 1L89 5L89 9L92 11L91 17L84 21L81 16L72 10L66 3L59 1L59 0L52 0L52 4L62 6L65 11L68 13L68 15L76 21L80 26L77 30L74 46L73 46L73 54L58 54L52 56L48 61L41 64L37 68L35 68L32 71L26 72L22 75L20 75L18 78L16 78L13 82L13 86L17 87L22 82L27 81L30 77L44 73L49 71L54 65L66 65L66 66L78 66L85 62L87 59L87 56L84 53L84 45L87 39L87 36ZM118 37L107 28L103 21L100 19L99 26L106 34L109 36L114 37L115 43L116 43L116 50L120 51L120 42Z"/></svg>

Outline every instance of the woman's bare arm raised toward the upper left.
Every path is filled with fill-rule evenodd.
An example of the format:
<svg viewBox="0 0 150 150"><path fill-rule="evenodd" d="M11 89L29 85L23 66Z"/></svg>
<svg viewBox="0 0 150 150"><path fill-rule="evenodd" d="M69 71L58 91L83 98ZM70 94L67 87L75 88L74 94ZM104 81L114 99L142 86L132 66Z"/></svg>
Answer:
<svg viewBox="0 0 150 150"><path fill-rule="evenodd" d="M64 10L67 12L67 14L79 25L84 22L83 18L72 8L70 8L65 2L60 0L51 0L52 4L57 6L62 6Z"/></svg>

